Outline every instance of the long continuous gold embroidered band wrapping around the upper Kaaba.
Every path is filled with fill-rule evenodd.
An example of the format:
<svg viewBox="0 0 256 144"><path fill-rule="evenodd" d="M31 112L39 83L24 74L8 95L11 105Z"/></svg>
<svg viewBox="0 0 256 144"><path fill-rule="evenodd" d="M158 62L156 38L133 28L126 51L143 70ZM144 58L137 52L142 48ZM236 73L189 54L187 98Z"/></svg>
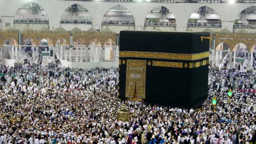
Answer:
<svg viewBox="0 0 256 144"><path fill-rule="evenodd" d="M210 53L202 52L195 54L185 54L185 53L162 53L162 52L140 52L140 51L122 51L120 52L120 57L136 57L136 58L158 58L158 59L176 59L176 60L186 60L194 61L197 59L207 58Z"/></svg>

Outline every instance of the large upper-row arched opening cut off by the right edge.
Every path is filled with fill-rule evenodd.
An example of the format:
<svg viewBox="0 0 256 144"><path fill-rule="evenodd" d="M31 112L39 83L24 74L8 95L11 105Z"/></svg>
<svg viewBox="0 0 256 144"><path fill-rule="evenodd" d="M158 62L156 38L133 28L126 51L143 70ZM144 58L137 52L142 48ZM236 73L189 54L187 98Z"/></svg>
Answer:
<svg viewBox="0 0 256 144"><path fill-rule="evenodd" d="M235 28L256 28L256 7L249 7L241 11L236 17Z"/></svg>

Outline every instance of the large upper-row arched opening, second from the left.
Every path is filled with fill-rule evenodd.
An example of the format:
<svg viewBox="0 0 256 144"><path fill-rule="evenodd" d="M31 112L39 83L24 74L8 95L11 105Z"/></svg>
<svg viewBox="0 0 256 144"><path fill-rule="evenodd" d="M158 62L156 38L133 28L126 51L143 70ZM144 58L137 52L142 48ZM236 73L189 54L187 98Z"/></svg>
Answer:
<svg viewBox="0 0 256 144"><path fill-rule="evenodd" d="M62 28L68 31L75 27L79 27L86 31L91 28L92 17L88 10L83 7L83 5L73 4L61 15L60 24ZM88 28L84 28L85 25L89 25Z"/></svg>

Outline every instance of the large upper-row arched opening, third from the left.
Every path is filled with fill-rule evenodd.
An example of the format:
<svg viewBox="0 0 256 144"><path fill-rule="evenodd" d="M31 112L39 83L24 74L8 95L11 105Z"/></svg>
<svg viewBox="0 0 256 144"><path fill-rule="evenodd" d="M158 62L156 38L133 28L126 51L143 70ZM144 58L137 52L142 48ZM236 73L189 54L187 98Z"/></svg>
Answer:
<svg viewBox="0 0 256 144"><path fill-rule="evenodd" d="M116 5L110 8L103 16L102 25L129 25L135 26L135 19L130 10Z"/></svg>

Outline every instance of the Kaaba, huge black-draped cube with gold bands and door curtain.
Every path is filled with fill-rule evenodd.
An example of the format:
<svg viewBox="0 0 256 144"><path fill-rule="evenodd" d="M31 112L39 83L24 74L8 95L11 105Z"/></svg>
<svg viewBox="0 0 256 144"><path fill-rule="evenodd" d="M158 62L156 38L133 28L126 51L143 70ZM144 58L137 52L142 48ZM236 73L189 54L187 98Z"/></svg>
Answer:
<svg viewBox="0 0 256 144"><path fill-rule="evenodd" d="M207 98L210 34L121 31L119 97L199 107Z"/></svg>

